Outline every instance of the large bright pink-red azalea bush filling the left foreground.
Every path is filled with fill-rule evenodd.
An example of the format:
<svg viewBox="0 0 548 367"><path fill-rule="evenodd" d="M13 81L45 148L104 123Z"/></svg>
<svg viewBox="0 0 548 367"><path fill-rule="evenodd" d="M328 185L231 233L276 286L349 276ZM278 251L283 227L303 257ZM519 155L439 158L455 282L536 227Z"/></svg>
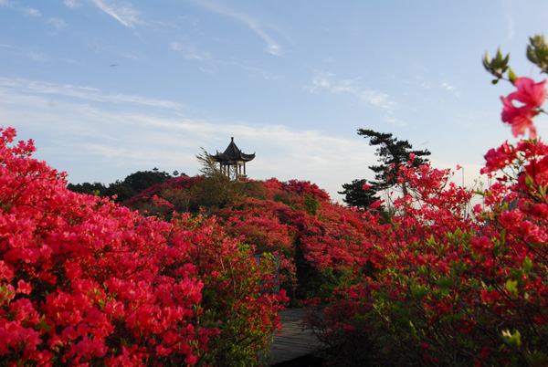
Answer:
<svg viewBox="0 0 548 367"><path fill-rule="evenodd" d="M214 219L72 193L0 131L0 364L257 363L286 300L262 291L272 262Z"/></svg>

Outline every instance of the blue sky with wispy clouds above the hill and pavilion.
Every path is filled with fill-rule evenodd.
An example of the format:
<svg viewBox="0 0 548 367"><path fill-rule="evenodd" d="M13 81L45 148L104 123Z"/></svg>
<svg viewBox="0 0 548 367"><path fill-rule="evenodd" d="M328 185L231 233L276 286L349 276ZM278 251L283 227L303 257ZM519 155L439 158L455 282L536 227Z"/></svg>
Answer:
<svg viewBox="0 0 548 367"><path fill-rule="evenodd" d="M515 141L500 120L511 86L492 86L481 57L501 47L518 76L544 79L524 53L547 27L545 1L0 0L0 126L75 184L194 175L200 147L233 136L257 153L250 177L340 200L373 178L359 128L473 184L484 153Z"/></svg>

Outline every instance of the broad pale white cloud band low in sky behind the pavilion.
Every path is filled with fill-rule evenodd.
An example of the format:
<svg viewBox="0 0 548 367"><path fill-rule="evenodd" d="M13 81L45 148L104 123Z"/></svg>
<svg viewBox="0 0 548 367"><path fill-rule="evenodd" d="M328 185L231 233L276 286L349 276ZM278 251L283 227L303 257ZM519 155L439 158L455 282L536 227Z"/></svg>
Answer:
<svg viewBox="0 0 548 367"><path fill-rule="evenodd" d="M374 150L359 137L344 139L283 125L182 118L174 103L161 103L173 112L166 117L135 109L113 110L112 99L145 104L151 100L98 96L100 90L85 86L0 79L0 115L7 126L26 131L27 135L20 139L35 139L37 158L68 171L73 183L110 183L137 170L160 165L168 172L196 174L199 163L195 154L200 147L208 152L222 151L231 136L242 151L257 153L248 166L250 177L311 181L330 192L335 200L341 199L337 191L342 184L369 174L366 170L356 171L356 167L375 162Z"/></svg>

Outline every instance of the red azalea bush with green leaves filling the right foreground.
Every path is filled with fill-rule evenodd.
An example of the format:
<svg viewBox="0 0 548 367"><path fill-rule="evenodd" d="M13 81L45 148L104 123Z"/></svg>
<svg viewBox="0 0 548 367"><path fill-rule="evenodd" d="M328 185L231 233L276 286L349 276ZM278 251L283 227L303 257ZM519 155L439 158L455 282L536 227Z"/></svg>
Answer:
<svg viewBox="0 0 548 367"><path fill-rule="evenodd" d="M501 79L507 59L484 64ZM517 91L502 98L502 121L534 139L545 81L509 73ZM335 361L548 364L548 147L505 142L485 158L482 173L496 179L479 193L485 209L470 210L472 193L450 184L449 171L424 165L400 169L407 194L395 200L391 223L364 214L381 257L376 273L323 300L324 319L315 312L307 319ZM320 301L312 299L311 310Z"/></svg>

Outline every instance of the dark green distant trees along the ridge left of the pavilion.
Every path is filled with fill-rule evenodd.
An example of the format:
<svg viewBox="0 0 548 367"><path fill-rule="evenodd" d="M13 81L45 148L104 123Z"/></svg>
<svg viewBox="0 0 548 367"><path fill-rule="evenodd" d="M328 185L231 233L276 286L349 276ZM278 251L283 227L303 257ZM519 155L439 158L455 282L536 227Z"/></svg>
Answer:
<svg viewBox="0 0 548 367"><path fill-rule="evenodd" d="M115 201L121 203L131 199L135 194L141 193L142 190L148 189L156 184L163 184L166 181L179 176L187 175L185 173L178 173L177 171L170 174L154 167L152 171L137 171L136 173L131 173L123 180L116 180L108 186L94 182L93 184L68 184L67 188L75 193L93 194L101 197L112 197L116 195Z"/></svg>

